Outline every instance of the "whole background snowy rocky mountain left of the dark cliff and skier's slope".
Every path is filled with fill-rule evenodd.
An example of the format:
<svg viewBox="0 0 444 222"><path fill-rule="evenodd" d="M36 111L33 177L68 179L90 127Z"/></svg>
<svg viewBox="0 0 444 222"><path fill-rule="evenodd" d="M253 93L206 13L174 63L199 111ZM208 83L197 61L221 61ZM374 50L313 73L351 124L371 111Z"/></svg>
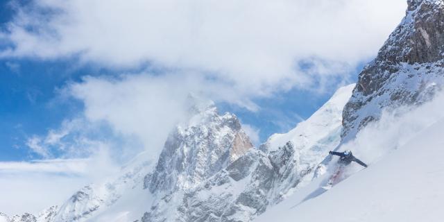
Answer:
<svg viewBox="0 0 444 222"><path fill-rule="evenodd" d="M191 99L157 163L142 153L119 176L80 189L46 221L251 221L318 176L314 169L340 142L353 87L260 149L236 116Z"/></svg>

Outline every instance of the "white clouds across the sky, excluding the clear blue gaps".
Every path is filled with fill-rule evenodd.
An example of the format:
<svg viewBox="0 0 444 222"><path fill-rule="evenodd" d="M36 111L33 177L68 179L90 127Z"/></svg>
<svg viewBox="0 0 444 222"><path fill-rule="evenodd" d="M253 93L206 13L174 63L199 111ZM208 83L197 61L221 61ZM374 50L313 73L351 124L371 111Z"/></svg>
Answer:
<svg viewBox="0 0 444 222"><path fill-rule="evenodd" d="M97 166L89 162L86 168L106 174L116 159L142 149L156 157L182 118L189 92L252 111L260 109L253 103L257 96L291 87L323 92L335 84L332 79L347 78L358 62L375 55L404 8L404 0L35 0L17 8L8 31L0 33L10 45L2 44L0 57L78 58L111 69L148 63L162 70L70 83L62 93L83 102L84 112L28 141L46 158L95 157ZM259 131L245 129L257 144ZM0 176L0 191L11 190L0 196L12 201L2 210L60 203L56 198L65 200L73 187L99 176L67 182L59 174L83 175L80 165L80 172L61 167L59 173L53 164L39 164L3 165L15 173ZM21 172L30 166L45 173L26 177ZM26 189L30 184L35 186Z"/></svg>

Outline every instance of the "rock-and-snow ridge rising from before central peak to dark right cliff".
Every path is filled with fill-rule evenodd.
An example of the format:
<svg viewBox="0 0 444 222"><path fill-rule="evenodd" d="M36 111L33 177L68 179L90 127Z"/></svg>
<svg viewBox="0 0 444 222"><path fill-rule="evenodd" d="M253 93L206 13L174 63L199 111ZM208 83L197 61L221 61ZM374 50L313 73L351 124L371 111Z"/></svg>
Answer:
<svg viewBox="0 0 444 222"><path fill-rule="evenodd" d="M198 186L160 198L142 221L251 221L314 177L314 169L340 142L341 113L354 85L290 133L273 135ZM300 134L304 132L304 137Z"/></svg>

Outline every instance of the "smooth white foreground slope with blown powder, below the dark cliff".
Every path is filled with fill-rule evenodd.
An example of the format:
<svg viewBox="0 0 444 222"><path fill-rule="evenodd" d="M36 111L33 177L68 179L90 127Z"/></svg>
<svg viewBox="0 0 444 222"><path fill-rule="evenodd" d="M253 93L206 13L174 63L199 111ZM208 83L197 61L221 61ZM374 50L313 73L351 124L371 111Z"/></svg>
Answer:
<svg viewBox="0 0 444 222"><path fill-rule="evenodd" d="M345 144L367 169L350 166L357 173L319 195L326 174L255 221L442 221L443 102L441 95L401 116L383 114Z"/></svg>

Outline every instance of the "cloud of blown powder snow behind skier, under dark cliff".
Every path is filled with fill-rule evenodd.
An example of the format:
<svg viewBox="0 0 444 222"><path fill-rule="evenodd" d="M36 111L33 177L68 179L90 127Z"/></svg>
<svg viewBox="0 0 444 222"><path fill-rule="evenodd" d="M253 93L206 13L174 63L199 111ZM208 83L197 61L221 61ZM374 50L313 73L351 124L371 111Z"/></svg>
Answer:
<svg viewBox="0 0 444 222"><path fill-rule="evenodd" d="M370 164L377 162L387 153L391 153L409 140L415 138L422 130L442 121L444 113L444 94L439 93L433 101L420 107L401 107L396 110L384 110L379 121L368 124L359 131L356 139L341 147L350 149ZM422 150L418 147L418 152ZM414 164L414 163L412 163Z"/></svg>

